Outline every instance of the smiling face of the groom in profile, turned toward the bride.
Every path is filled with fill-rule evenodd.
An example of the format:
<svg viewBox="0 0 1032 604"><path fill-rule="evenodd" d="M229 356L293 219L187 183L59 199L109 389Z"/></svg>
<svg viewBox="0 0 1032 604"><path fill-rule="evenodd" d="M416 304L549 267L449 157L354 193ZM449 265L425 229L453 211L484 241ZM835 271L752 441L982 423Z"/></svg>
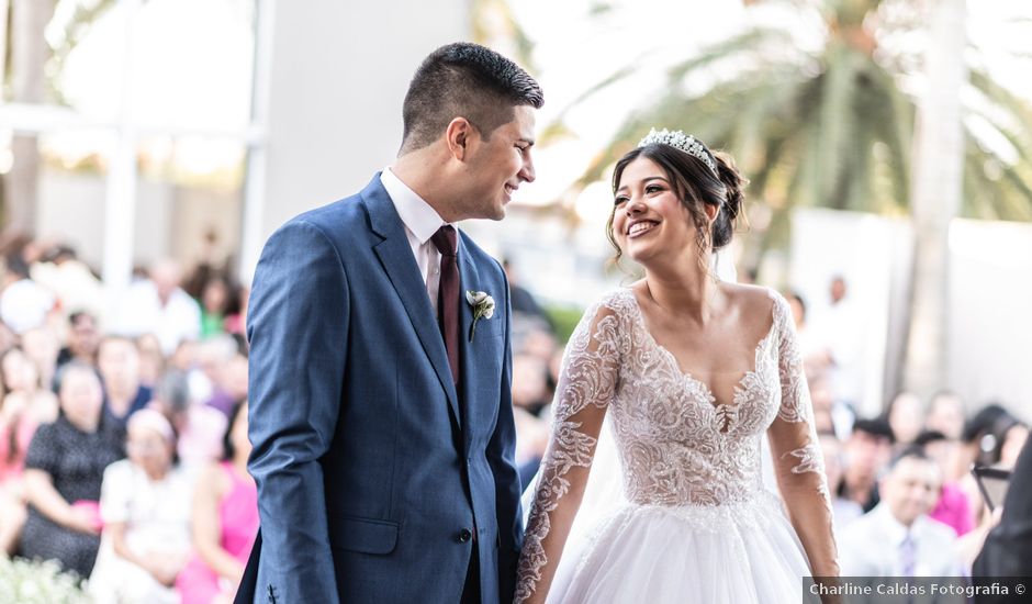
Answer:
<svg viewBox="0 0 1032 604"><path fill-rule="evenodd" d="M535 178L530 148L534 146L534 108L513 108L513 120L484 139L476 133L467 158L462 214L470 219L502 220L505 205L524 182Z"/></svg>

